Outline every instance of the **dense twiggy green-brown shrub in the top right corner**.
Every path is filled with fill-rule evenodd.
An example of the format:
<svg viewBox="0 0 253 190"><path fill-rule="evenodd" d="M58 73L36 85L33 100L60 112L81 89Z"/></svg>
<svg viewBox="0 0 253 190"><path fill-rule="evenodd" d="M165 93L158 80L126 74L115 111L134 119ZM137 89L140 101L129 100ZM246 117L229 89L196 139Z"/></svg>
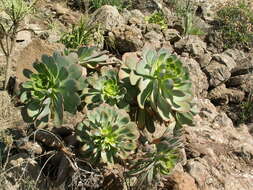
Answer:
<svg viewBox="0 0 253 190"><path fill-rule="evenodd" d="M217 12L217 28L224 48L253 47L253 12L244 1L225 5Z"/></svg>

